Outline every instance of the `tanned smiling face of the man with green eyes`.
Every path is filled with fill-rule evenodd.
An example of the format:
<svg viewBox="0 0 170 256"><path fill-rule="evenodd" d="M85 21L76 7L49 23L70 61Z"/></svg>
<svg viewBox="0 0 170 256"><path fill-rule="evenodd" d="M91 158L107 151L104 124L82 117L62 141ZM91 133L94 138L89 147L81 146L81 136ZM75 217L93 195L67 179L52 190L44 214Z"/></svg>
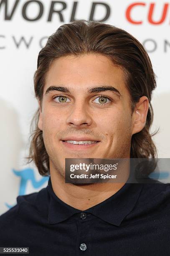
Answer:
<svg viewBox="0 0 170 256"><path fill-rule="evenodd" d="M68 91L49 90L51 86ZM115 90L99 92L97 87ZM50 165L61 173L65 158L129 158L134 118L122 69L96 54L53 61L38 127L43 131ZM78 145L66 141L97 142Z"/></svg>

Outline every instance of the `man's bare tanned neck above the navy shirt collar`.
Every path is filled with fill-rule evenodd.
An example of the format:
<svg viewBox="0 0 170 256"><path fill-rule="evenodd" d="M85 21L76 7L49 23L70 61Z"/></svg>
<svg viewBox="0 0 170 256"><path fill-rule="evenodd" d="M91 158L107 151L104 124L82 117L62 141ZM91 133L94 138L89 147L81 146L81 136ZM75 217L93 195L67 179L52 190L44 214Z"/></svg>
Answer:
<svg viewBox="0 0 170 256"><path fill-rule="evenodd" d="M128 169L124 174L127 174L128 179ZM56 196L66 204L81 211L87 210L90 207L103 202L117 193L126 183L65 183L64 177L53 167L53 165L50 165L50 176L52 188Z"/></svg>

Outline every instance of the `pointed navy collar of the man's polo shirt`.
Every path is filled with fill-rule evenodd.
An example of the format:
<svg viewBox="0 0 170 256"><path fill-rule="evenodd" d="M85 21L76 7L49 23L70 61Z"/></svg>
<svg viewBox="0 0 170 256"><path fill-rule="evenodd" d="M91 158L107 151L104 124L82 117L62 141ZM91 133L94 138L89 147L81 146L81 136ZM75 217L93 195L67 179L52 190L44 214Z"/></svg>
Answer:
<svg viewBox="0 0 170 256"><path fill-rule="evenodd" d="M117 193L83 212L91 213L108 223L119 226L122 220L133 210L134 205L140 197L142 187L143 184L126 183ZM67 205L56 196L53 192L51 177L48 180L47 190L50 195L48 223L56 224L66 220L75 213L82 212Z"/></svg>

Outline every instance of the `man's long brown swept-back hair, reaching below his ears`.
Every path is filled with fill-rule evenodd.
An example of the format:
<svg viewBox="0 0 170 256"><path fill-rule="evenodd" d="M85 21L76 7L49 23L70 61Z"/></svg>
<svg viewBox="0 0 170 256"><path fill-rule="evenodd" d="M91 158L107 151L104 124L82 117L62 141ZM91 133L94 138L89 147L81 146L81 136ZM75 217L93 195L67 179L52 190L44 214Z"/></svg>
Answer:
<svg viewBox="0 0 170 256"><path fill-rule="evenodd" d="M132 113L140 97L147 96L151 102L152 90L156 87L155 74L150 58L140 42L120 28L86 20L76 20L60 26L53 33L38 55L34 75L34 89L37 99L42 101L44 81L53 60L61 56L82 54L103 54L114 65L124 71L124 82L131 96ZM49 157L43 142L43 132L38 128L39 109L31 127L30 154L28 163L34 161L42 176L49 175ZM153 110L150 103L146 125L139 133L132 135L131 158L155 159L157 151L150 134Z"/></svg>

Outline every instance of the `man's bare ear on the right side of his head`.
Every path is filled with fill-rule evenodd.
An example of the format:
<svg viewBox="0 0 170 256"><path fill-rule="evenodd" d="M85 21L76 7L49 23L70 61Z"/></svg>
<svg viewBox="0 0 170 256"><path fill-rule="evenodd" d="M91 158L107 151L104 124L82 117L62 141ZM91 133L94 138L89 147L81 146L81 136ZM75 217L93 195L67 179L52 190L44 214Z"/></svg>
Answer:
<svg viewBox="0 0 170 256"><path fill-rule="evenodd" d="M146 96L142 96L139 102L136 103L132 114L132 134L139 133L145 127L148 109L149 100Z"/></svg>

